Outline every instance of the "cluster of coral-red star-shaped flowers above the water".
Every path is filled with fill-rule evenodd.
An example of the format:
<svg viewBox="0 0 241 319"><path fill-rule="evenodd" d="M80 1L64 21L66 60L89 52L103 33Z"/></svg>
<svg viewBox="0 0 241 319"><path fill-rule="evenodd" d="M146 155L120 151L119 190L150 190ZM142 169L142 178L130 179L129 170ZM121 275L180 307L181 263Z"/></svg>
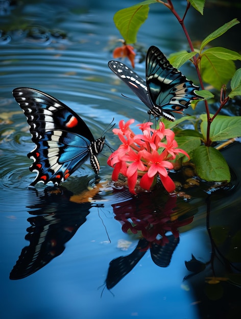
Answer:
<svg viewBox="0 0 241 319"><path fill-rule="evenodd" d="M137 177L139 185L144 190L150 190L155 177L159 174L161 182L168 193L175 190L175 184L168 176L167 170L173 169L173 159L177 153L188 154L177 148L174 140L175 134L170 129L165 129L162 122L159 129L151 128L153 123L138 124L142 134L135 135L129 125L134 123L131 119L126 123L119 122L119 129L114 128L122 144L108 158L107 164L114 167L112 179L118 180L119 173L127 177L128 187L132 194L136 194L135 186Z"/></svg>

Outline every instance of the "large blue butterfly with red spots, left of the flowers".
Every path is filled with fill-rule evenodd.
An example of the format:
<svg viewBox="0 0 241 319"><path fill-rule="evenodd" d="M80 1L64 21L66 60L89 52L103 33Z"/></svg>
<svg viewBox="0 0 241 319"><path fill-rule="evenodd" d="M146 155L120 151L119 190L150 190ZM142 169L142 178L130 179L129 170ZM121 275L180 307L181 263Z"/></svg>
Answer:
<svg viewBox="0 0 241 319"><path fill-rule="evenodd" d="M41 181L54 184L66 180L86 159L95 174L100 164L105 137L94 140L85 122L73 110L56 98L30 88L16 88L13 96L27 117L36 144L28 157L34 160L31 172L37 172L30 185Z"/></svg>

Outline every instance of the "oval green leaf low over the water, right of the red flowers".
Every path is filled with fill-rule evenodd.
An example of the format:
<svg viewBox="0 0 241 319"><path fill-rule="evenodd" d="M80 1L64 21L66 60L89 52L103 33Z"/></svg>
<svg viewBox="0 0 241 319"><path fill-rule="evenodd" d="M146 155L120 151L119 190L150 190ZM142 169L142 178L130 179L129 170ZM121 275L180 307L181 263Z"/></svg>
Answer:
<svg viewBox="0 0 241 319"><path fill-rule="evenodd" d="M199 146L192 153L197 174L206 181L230 181L228 164L214 147Z"/></svg>

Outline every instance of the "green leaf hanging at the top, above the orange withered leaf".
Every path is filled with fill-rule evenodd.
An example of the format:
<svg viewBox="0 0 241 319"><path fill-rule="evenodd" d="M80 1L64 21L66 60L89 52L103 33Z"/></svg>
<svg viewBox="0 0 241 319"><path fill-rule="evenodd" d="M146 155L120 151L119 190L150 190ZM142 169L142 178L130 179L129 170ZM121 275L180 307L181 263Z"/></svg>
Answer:
<svg viewBox="0 0 241 319"><path fill-rule="evenodd" d="M149 4L154 0L144 1L138 5L119 10L114 15L114 23L125 42L135 43L137 32L149 13Z"/></svg>

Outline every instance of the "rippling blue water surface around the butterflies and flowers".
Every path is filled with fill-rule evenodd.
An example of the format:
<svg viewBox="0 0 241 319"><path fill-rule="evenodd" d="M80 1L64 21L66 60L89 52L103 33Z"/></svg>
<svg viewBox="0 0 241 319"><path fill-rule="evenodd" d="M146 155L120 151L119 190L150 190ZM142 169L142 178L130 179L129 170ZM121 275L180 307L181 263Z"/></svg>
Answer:
<svg viewBox="0 0 241 319"><path fill-rule="evenodd" d="M35 176L29 171L31 160L26 156L33 149L33 142L26 118L12 97L14 88L32 87L55 96L81 115L96 138L101 136L113 118L115 123L129 118L135 118L137 123L148 119L142 103L121 96L123 93L134 97L107 66L112 59L115 41L119 38L113 15L135 3L26 1L1 7L1 318L137 316L201 319L228 318L241 310L237 278L231 278L231 271L227 273L220 254L211 255L212 245L206 224L206 212L210 210L215 243L222 256L238 269L240 259L233 255L233 251L240 252L239 144L223 152L233 170L232 183L225 190L219 191L217 186L213 195L209 196L209 186L203 183L200 188L186 191L191 196L190 200L177 199L180 221L192 218L193 221L178 228L180 242L171 249L168 267L159 267L153 262L151 253L154 247L142 254L138 248L139 234L124 233L122 224L114 218L116 207L123 205L123 214L128 209L134 214L139 207L137 204L149 207L156 202L162 207L166 197L157 192L152 197L135 199L127 191L114 188L110 182L112 169L106 164L106 156L110 154L108 147L102 152L104 156L99 156L101 188L91 203L80 202L83 191L95 185L88 162L63 184L62 194L53 194L53 189L42 185L37 185L36 190L28 188ZM184 10L185 2L174 3L177 10ZM207 16L213 16L212 10L207 9ZM210 25L210 30L207 30L205 18L191 11L187 26L194 39L202 39L213 29L237 17L231 9L221 7L219 10L220 23L217 21ZM198 22L201 28L197 30ZM159 32L153 32L156 25ZM231 35L224 39L230 40L230 49L235 49L237 43L231 41ZM138 34L138 43L143 49L156 45L166 55L186 48L180 26L160 5L151 9L147 24ZM216 42L215 45L221 44ZM140 53L138 56L141 58ZM144 62L137 63L136 71L144 74ZM197 81L190 66L185 66L183 72ZM111 131L107 132L106 141L113 148L118 146ZM182 179L180 176L177 178ZM172 233L169 231L166 235L171 238ZM36 251L45 240L49 245L45 249L51 252L52 260L43 264L42 268L38 265L39 269L27 277L24 276L24 268L15 271L10 280L9 275L18 256L24 247L30 245L30 238L34 242L35 236L38 242L38 246L34 246ZM127 246L119 246L119 240L126 241ZM132 260L141 254L142 257L108 290L111 285L111 280L107 280L109 263L134 251L136 254ZM190 260L192 254L201 263L214 261L206 265L205 271L183 281L191 274L185 261ZM223 291L219 299L215 299L215 293L211 294L212 298L207 294L210 285L205 284L205 278L213 275L213 269L216 277L231 278L217 286L219 291ZM118 269L119 273L121 269Z"/></svg>

